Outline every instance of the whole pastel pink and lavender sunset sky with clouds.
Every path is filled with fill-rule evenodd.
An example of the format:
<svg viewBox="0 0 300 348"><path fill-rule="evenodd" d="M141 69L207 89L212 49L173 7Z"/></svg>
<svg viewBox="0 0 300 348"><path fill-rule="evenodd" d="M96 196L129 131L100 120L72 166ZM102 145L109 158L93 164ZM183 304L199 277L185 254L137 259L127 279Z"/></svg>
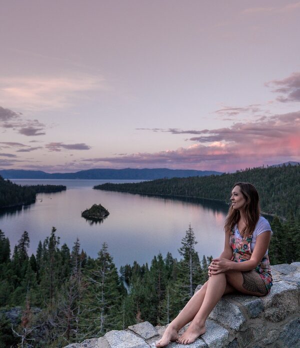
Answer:
<svg viewBox="0 0 300 348"><path fill-rule="evenodd" d="M300 2L0 0L0 169L300 161Z"/></svg>

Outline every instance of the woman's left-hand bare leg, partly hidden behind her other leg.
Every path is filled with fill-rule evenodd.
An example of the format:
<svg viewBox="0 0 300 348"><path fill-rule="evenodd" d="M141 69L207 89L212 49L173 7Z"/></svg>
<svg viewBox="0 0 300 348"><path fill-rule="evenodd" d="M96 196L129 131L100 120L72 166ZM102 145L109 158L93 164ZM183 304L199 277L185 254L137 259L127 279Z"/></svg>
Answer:
<svg viewBox="0 0 300 348"><path fill-rule="evenodd" d="M178 339L178 331L181 327L183 327L185 324L190 322L194 316L199 311L205 293L207 289L207 284L209 283L210 279L201 287L200 290L198 290L186 303L186 305L183 307L183 309L180 311L180 313L175 317L175 319L168 325L166 330L164 331L161 339L156 342L156 347L164 347L167 345L170 341L175 341ZM232 288L229 284L226 286L224 293L230 293L233 292L234 288ZM182 336L181 336L182 337Z"/></svg>

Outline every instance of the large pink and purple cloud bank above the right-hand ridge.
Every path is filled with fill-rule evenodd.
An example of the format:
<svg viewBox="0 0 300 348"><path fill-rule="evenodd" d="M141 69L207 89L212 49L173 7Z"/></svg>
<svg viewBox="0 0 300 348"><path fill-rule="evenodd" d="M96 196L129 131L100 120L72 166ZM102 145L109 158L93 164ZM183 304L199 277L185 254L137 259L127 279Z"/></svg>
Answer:
<svg viewBox="0 0 300 348"><path fill-rule="evenodd" d="M231 127L202 130L168 129L173 134L198 134L187 148L155 153L132 153L115 157L87 158L91 164L102 163L137 167L187 167L232 170L281 160L299 160L300 111L261 117L256 122L239 122ZM259 164L260 163L260 164Z"/></svg>

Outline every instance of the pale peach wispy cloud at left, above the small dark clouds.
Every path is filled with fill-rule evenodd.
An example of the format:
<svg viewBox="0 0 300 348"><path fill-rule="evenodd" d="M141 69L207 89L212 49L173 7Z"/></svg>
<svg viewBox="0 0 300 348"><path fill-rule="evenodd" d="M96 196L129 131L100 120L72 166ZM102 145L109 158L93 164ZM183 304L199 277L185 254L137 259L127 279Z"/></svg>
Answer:
<svg viewBox="0 0 300 348"><path fill-rule="evenodd" d="M109 90L102 77L9 77L0 78L0 103L27 110L57 109L73 104L84 91Z"/></svg>

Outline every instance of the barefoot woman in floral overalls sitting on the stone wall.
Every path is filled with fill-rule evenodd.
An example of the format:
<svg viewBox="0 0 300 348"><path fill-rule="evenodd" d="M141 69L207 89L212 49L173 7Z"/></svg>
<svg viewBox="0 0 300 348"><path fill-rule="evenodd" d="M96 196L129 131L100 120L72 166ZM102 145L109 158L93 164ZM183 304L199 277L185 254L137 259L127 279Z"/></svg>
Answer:
<svg viewBox="0 0 300 348"><path fill-rule="evenodd" d="M167 326L156 347L170 341L192 343L205 332L205 320L224 294L263 296L270 291L272 277L267 249L272 232L267 220L259 215L257 191L249 183L236 183L230 200L223 252L211 261L208 281ZM189 321L190 325L179 336L179 329Z"/></svg>

